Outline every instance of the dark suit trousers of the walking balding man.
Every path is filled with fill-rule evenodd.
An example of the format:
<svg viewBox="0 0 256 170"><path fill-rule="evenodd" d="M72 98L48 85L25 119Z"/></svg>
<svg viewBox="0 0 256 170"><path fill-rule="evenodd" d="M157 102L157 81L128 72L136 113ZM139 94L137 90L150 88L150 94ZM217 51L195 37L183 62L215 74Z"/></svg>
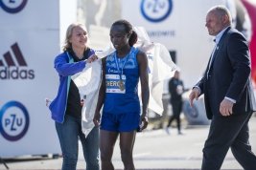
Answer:
<svg viewBox="0 0 256 170"><path fill-rule="evenodd" d="M251 115L250 112L213 117L209 136L202 150L202 170L220 170L229 147L244 170L256 169L256 156L251 152L249 144L248 120Z"/></svg>

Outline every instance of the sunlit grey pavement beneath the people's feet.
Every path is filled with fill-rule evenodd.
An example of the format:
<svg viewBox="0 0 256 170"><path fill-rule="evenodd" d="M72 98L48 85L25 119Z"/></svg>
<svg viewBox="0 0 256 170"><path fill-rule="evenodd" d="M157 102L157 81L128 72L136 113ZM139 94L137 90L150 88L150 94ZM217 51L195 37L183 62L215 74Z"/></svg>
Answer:
<svg viewBox="0 0 256 170"><path fill-rule="evenodd" d="M249 121L250 143L252 151L256 153L256 117ZM177 135L175 128L168 135L164 129L148 130L137 134L133 149L133 158L136 169L155 170L184 170L200 169L202 148L208 135L209 126L189 126L184 129L185 135ZM5 159L12 170L17 169L61 169L61 158L41 158L24 156L19 158ZM120 158L119 140L113 154L115 169L124 169ZM85 162L80 153L77 169L85 169ZM6 169L0 163L0 170ZM228 151L221 169L243 169ZM255 168L256 169L256 168Z"/></svg>

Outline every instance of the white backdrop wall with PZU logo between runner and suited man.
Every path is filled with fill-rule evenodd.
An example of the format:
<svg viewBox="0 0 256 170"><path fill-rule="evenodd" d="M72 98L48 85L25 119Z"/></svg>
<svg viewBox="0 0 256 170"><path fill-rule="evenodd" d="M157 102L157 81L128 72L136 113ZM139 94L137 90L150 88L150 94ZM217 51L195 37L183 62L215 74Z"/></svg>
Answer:
<svg viewBox="0 0 256 170"><path fill-rule="evenodd" d="M144 27L151 42L161 43L174 53L185 87L193 87L205 71L208 62L205 56L214 48L213 37L204 26L205 15L211 7L223 5L224 1L234 0L122 0L121 18L132 26ZM191 64L195 61L204 64L195 68ZM164 83L166 91L167 84Z"/></svg>

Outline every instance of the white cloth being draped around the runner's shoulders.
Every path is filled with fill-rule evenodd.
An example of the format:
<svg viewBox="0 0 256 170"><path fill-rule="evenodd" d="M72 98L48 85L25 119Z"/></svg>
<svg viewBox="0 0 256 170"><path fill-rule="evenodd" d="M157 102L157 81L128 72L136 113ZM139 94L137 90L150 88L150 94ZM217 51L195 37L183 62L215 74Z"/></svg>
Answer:
<svg viewBox="0 0 256 170"><path fill-rule="evenodd" d="M151 39L143 27L134 27L133 31L138 34L138 41L134 45L140 51L148 56L149 61L149 86L150 86L150 102L149 109L156 112L160 116L163 112L162 92L163 81L171 78L178 68L172 61L170 53L160 43L151 43ZM99 58L113 53L115 49L109 43L107 49L103 52L96 51ZM94 127L93 117L97 105L99 88L102 80L102 64L101 59L86 64L81 73L71 76L77 85L81 96L86 96L81 111L82 132L87 137ZM141 99L141 87L138 90ZM142 103L142 102L141 102Z"/></svg>

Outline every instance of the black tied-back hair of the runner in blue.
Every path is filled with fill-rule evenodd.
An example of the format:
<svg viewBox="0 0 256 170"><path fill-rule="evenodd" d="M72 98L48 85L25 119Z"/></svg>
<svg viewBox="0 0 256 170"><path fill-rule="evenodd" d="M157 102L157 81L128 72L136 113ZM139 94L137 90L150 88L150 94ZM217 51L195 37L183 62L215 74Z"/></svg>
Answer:
<svg viewBox="0 0 256 170"><path fill-rule="evenodd" d="M126 31L127 33L130 33L130 32L131 32L131 34L130 34L130 36L129 36L129 39L128 39L128 45L129 45L130 47L132 47L132 46L137 42L137 40L138 40L138 35L137 35L136 32L134 32L134 31L132 30L131 24L130 24L127 20L125 20L125 19L120 19L120 20L117 20L116 22L114 22L114 23L112 24L112 26L117 26L117 25L123 25L123 26L125 27L125 31ZM111 26L111 27L112 27L112 26Z"/></svg>

